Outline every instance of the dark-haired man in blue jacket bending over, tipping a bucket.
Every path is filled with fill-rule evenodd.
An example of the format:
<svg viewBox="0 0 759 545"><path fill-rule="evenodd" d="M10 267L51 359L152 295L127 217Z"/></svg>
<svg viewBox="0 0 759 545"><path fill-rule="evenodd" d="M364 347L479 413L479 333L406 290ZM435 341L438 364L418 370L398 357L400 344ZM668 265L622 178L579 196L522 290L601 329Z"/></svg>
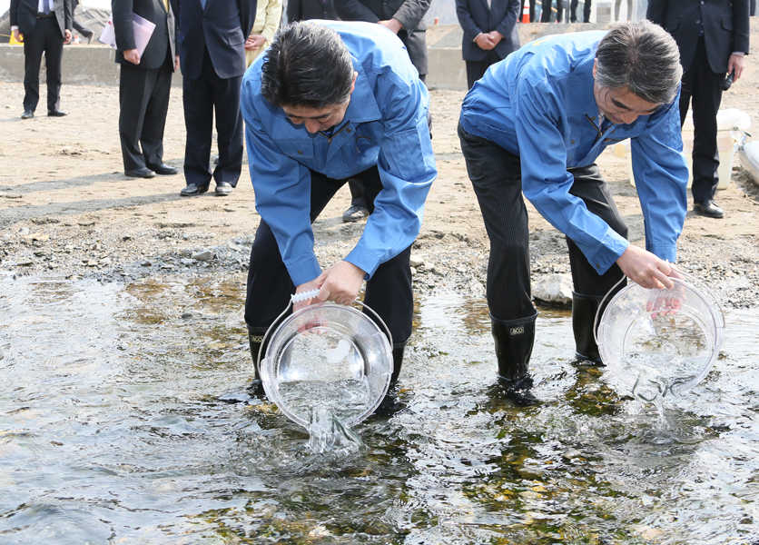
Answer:
<svg viewBox="0 0 759 545"><path fill-rule="evenodd" d="M296 306L349 304L366 280L364 302L392 335L396 381L411 334L411 243L437 176L428 108L403 44L380 25L293 23L251 64L242 116L261 214L245 302L253 362L293 291L319 290ZM370 216L350 253L322 270L311 222L351 177L369 193Z"/></svg>

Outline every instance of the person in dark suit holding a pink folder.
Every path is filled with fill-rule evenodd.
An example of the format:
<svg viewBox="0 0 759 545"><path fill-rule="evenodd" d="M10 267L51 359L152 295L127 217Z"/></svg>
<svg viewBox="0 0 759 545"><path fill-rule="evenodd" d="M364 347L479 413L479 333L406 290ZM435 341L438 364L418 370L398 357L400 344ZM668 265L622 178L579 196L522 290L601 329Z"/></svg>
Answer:
<svg viewBox="0 0 759 545"><path fill-rule="evenodd" d="M121 64L119 137L124 173L133 178L175 174L173 166L163 163L163 128L169 111L172 73L179 64L172 3L111 0L111 10L116 62ZM155 24L142 56L134 42L133 13Z"/></svg>

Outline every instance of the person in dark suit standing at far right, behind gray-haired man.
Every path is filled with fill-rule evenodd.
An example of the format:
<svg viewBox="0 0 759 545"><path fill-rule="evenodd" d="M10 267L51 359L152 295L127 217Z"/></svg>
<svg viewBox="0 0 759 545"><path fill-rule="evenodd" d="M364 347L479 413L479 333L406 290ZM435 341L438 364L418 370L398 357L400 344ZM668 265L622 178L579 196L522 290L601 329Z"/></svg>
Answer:
<svg viewBox="0 0 759 545"><path fill-rule="evenodd" d="M734 80L744 71L748 54L749 0L651 0L646 17L673 35L680 48L683 87L680 123L693 100L694 211L711 218L724 216L715 203L719 179L716 114L722 101L725 74Z"/></svg>

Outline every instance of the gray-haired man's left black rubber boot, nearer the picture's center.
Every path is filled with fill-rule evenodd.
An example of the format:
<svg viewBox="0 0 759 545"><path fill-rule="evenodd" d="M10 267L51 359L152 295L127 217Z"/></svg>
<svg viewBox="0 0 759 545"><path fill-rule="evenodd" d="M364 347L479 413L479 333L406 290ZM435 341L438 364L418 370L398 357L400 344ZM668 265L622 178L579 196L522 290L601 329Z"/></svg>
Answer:
<svg viewBox="0 0 759 545"><path fill-rule="evenodd" d="M498 382L507 399L521 407L539 402L529 391L532 377L527 372L535 342L536 319L537 313L528 318L508 321L490 316L498 358Z"/></svg>

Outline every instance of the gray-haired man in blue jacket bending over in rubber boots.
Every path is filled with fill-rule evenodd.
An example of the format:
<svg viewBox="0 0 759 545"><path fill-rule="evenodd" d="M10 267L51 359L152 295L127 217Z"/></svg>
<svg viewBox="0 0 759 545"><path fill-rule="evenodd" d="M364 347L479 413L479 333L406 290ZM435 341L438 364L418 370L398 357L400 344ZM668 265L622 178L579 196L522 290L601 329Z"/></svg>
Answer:
<svg viewBox="0 0 759 545"><path fill-rule="evenodd" d="M680 137L682 68L675 40L643 21L556 35L493 64L469 91L458 135L490 239L488 308L507 396L535 402L527 372L537 312L531 301L522 192L567 236L577 355L600 363L593 323L623 275L669 288L685 221ZM596 158L631 139L646 250L627 229Z"/></svg>

